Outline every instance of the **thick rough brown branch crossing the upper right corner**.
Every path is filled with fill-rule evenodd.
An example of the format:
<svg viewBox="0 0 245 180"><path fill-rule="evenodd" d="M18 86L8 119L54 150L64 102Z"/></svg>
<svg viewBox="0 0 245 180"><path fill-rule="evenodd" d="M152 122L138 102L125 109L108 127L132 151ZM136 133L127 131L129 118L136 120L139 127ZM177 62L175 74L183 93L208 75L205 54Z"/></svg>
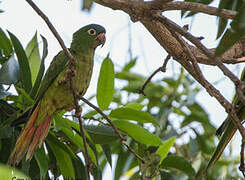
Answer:
<svg viewBox="0 0 245 180"><path fill-rule="evenodd" d="M128 0L113 0L113 1L96 0L96 2L103 6L110 7L112 9L122 10L127 14L129 14L131 17L134 16L135 20L141 21L141 23L144 24L144 26L148 29L148 31L155 37L155 39L170 55L179 55L179 56L183 55L181 59L189 60L189 57L184 55L181 45L176 41L175 38L173 38L172 34L168 31L168 29L164 25L162 25L162 23L154 20L145 19L145 17L147 17L147 13L148 14L154 13L154 12L150 12L150 8L153 6L152 4L159 3L161 2L160 0L156 2L153 1L153 2L144 2L144 3L136 2L136 1L128 1ZM185 2L169 2L169 3L161 3L161 4L164 7L167 7L168 4L170 4L170 7L174 8L178 3L183 5ZM187 4L184 4L183 7L185 6L187 7L188 6ZM189 5L189 7L195 9L194 8L195 5L193 4ZM221 10L221 12L223 11ZM234 13L235 13L234 11L230 12L230 14L234 14ZM192 51L192 53L194 54L194 56L196 57L198 63L207 64L207 65L216 65L214 61L210 61L210 59L204 53L202 53L198 48L192 45L188 45L188 46ZM215 51L215 49L209 49L209 50L212 53L214 53ZM223 63L237 64L243 62L238 60L238 58L242 58L243 56L245 56L245 40L238 41L229 50L227 50L222 56L220 56L219 59Z"/></svg>

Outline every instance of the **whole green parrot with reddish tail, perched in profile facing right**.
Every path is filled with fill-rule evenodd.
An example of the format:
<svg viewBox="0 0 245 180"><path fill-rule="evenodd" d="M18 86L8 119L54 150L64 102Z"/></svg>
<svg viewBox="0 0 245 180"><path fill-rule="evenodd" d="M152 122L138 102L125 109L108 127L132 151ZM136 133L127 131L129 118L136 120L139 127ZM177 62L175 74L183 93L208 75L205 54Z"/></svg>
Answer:
<svg viewBox="0 0 245 180"><path fill-rule="evenodd" d="M90 24L73 34L70 52L76 60L73 82L79 95L84 95L91 79L94 52L105 43L105 28ZM72 110L74 98L70 83L65 82L69 59L60 51L51 62L41 82L35 106L29 120L17 139L8 164L17 164L26 154L30 160L37 147L41 147L51 126L52 117L61 110Z"/></svg>

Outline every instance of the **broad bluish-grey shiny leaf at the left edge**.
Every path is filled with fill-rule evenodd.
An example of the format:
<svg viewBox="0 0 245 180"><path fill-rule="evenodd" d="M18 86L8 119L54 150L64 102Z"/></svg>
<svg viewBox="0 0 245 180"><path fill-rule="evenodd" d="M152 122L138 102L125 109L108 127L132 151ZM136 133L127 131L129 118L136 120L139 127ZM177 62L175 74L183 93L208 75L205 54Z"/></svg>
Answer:
<svg viewBox="0 0 245 180"><path fill-rule="evenodd" d="M11 85L20 79L19 64L12 55L7 62L2 64L0 69L0 84Z"/></svg>

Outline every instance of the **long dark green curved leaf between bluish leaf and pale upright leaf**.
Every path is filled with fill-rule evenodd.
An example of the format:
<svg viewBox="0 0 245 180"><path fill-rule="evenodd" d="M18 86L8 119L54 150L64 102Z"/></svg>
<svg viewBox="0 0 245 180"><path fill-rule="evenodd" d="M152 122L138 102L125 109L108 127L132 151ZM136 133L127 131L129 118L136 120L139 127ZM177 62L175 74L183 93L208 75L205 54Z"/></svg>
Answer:
<svg viewBox="0 0 245 180"><path fill-rule="evenodd" d="M12 34L9 31L8 33L18 58L18 62L20 66L20 81L25 91L29 93L32 88L32 81L31 81L31 70L30 70L28 59L26 57L25 51L20 41L16 38L14 34Z"/></svg>

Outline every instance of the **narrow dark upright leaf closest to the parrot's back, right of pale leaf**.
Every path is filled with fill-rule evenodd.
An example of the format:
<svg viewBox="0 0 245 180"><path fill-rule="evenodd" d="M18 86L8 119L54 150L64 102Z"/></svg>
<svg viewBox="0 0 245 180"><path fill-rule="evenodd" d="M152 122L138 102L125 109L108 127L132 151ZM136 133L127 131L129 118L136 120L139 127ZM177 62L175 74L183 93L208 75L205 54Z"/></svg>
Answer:
<svg viewBox="0 0 245 180"><path fill-rule="evenodd" d="M45 59L48 55L48 43L47 43L47 40L45 37L42 37L42 40L43 40L43 55L42 55L42 59L41 59L41 64L40 64L40 67L39 67L39 71L38 71L38 74L37 74L37 78L36 78L36 81L35 81L35 84L31 90L31 97L34 98L37 94L37 91L38 91L38 88L41 84L41 81L42 81L42 78L43 78L43 74L44 74L44 71L45 71Z"/></svg>

